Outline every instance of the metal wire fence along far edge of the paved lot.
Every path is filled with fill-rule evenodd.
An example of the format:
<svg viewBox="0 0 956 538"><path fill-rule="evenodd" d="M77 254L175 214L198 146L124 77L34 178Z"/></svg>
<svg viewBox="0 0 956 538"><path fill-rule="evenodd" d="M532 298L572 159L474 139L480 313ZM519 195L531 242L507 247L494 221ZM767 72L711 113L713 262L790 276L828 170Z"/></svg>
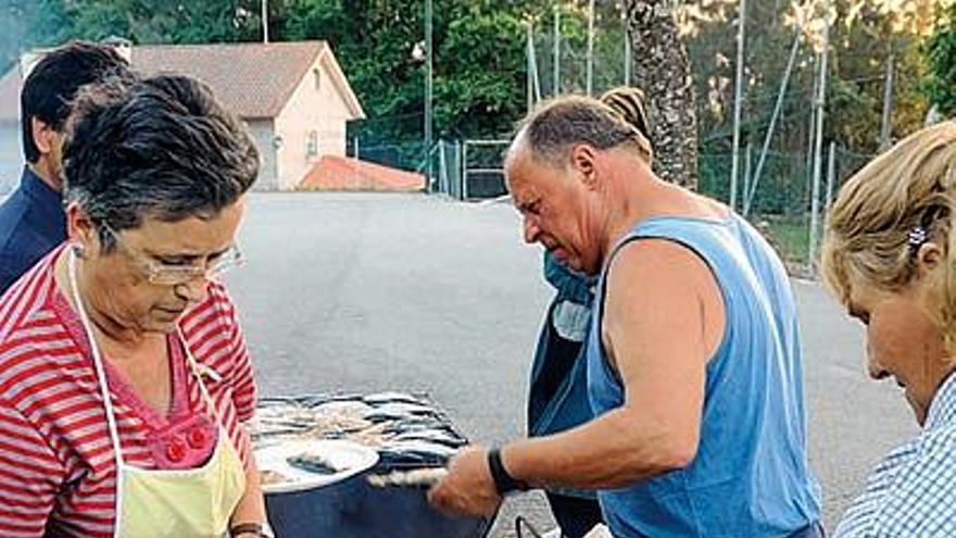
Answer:
<svg viewBox="0 0 956 538"><path fill-rule="evenodd" d="M420 143L357 146L353 154L423 173L430 178L429 192L475 201L507 193L503 170L507 145L504 139L441 139L427 154ZM762 159L750 147L742 157L734 209L771 240L792 270L812 275L830 201L846 178L872 158L831 143L815 189L806 152L768 151L758 165ZM701 153L699 191L729 204L731 160L729 152Z"/></svg>

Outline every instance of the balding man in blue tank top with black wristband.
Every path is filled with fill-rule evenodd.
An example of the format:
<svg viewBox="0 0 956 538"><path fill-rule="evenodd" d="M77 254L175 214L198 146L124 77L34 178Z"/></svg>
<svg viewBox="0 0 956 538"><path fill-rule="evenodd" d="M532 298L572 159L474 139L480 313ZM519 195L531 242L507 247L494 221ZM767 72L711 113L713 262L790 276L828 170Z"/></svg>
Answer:
<svg viewBox="0 0 956 538"><path fill-rule="evenodd" d="M656 177L640 137L578 97L519 129L505 166L525 240L600 276L596 417L463 450L430 499L491 514L512 491L591 488L618 538L822 536L783 266L726 207Z"/></svg>

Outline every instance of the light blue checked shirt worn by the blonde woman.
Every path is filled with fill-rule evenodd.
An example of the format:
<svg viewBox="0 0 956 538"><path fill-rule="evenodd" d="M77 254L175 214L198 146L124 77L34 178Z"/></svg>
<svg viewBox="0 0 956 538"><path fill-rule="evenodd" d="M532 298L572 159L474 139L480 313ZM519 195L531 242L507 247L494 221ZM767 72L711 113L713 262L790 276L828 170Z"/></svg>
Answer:
<svg viewBox="0 0 956 538"><path fill-rule="evenodd" d="M956 374L936 391L922 434L876 466L833 536L956 536Z"/></svg>

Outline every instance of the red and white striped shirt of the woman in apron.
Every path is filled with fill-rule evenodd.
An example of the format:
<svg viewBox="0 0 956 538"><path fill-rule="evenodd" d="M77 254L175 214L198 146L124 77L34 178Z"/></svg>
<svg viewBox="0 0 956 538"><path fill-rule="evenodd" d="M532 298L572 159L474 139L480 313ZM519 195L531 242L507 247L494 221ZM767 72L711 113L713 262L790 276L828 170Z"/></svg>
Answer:
<svg viewBox="0 0 956 538"><path fill-rule="evenodd" d="M0 537L110 538L115 522L116 460L89 342L58 289L59 248L0 298ZM221 284L179 321L203 383L243 462L255 384L236 310ZM126 464L158 468L148 439L179 418L209 413L177 339L169 342L174 402L169 416L144 405L106 367ZM177 402L176 393L179 393ZM188 397L188 398L187 398ZM188 401L187 401L188 400Z"/></svg>

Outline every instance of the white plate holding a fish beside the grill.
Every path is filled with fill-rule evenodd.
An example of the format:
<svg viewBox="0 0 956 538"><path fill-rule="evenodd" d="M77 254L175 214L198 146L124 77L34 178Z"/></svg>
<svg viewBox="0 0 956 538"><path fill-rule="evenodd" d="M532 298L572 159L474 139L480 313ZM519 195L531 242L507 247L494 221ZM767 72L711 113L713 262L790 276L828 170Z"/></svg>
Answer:
<svg viewBox="0 0 956 538"><path fill-rule="evenodd" d="M289 464L289 458L305 452L322 454L325 462L341 471L322 475ZM294 440L256 450L255 463L259 465L260 472L274 471L289 478L289 480L278 484L263 484L263 492L286 493L328 486L368 471L378 463L378 452L352 441Z"/></svg>

